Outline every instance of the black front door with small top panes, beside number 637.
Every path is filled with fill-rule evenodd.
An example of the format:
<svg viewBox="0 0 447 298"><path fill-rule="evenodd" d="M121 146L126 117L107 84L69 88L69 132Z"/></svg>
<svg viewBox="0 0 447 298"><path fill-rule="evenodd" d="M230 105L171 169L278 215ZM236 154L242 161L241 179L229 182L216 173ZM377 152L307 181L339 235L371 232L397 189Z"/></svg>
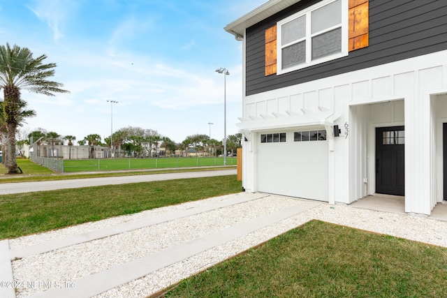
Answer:
<svg viewBox="0 0 447 298"><path fill-rule="evenodd" d="M405 194L404 126L376 128L376 193Z"/></svg>

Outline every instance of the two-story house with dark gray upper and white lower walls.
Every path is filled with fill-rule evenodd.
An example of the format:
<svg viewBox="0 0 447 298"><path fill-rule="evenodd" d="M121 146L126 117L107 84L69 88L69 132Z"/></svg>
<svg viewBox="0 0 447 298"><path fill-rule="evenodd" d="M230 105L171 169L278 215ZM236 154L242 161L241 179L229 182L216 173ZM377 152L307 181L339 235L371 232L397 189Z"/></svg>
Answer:
<svg viewBox="0 0 447 298"><path fill-rule="evenodd" d="M349 204L447 197L447 1L271 0L242 40L242 186Z"/></svg>

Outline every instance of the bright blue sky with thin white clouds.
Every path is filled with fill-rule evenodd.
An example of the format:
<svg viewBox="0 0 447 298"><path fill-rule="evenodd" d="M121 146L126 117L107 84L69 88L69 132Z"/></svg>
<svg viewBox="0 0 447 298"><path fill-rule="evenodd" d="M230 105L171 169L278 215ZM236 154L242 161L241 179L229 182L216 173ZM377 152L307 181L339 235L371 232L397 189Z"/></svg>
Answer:
<svg viewBox="0 0 447 298"><path fill-rule="evenodd" d="M226 24L266 0L2 0L0 43L28 47L57 64L53 80L70 94L22 91L37 112L25 129L82 140L126 126L151 128L175 142L223 138L242 114L242 42Z"/></svg>

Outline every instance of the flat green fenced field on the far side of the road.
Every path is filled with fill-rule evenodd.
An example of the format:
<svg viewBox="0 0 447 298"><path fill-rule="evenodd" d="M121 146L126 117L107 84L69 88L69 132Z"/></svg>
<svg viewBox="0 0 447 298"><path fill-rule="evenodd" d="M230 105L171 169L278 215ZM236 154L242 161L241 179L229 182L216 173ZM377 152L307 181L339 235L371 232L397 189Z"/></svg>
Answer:
<svg viewBox="0 0 447 298"><path fill-rule="evenodd" d="M237 158L227 157L227 165L236 165ZM168 167L200 167L223 165L223 157L199 158L106 158L64 160L64 172L88 172L108 170L163 169Z"/></svg>

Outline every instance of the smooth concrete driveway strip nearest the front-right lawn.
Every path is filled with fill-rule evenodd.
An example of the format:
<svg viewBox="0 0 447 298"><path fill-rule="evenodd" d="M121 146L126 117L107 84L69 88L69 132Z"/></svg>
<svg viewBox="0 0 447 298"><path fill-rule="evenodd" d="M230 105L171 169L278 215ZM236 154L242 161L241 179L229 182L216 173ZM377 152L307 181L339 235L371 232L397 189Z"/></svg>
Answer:
<svg viewBox="0 0 447 298"><path fill-rule="evenodd" d="M92 297L99 295L124 283L129 283L134 279L141 278L149 272L167 267L176 262L186 260L193 255L219 246L238 237L250 234L261 228L282 221L291 216L295 216L308 209L316 207L317 202L302 202L295 207L280 209L271 214L266 214L258 218L251 219L244 223L238 223L226 229L206 234L203 237L187 241L186 243L170 246L163 251L159 251L144 258L133 260L122 265L117 265L106 271L101 271L84 278L80 278L73 283L73 288L53 288L45 292L40 292L33 298L59 298L59 297Z"/></svg>

